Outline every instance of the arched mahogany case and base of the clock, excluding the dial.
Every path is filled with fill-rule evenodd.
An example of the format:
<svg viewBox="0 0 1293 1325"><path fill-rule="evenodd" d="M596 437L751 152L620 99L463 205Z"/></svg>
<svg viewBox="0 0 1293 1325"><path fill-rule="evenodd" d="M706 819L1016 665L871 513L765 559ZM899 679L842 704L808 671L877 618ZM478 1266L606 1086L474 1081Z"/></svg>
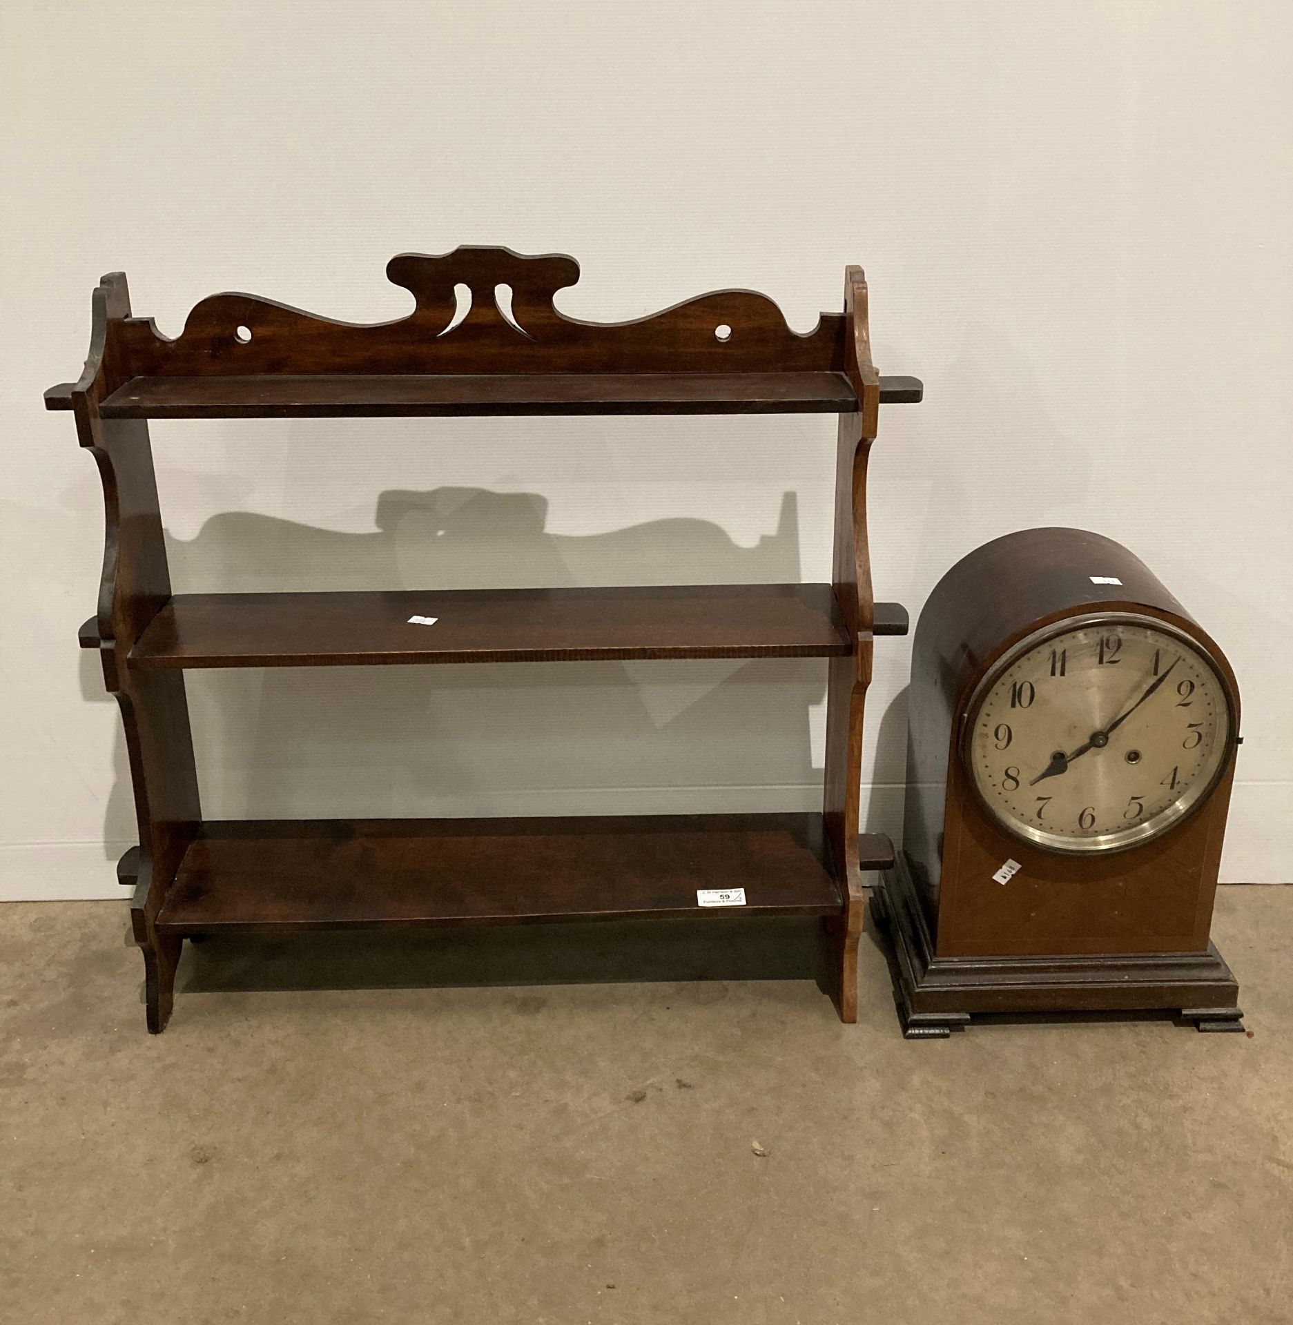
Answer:
<svg viewBox="0 0 1293 1325"><path fill-rule="evenodd" d="M1227 749L1179 822L1141 844L1074 855L988 814L962 747L976 692L1021 641L1101 613L1162 623L1202 653L1225 692ZM1239 688L1139 558L1076 529L1024 530L971 553L921 613L909 713L902 848L873 896L906 1035L947 1035L982 1012L1150 1008L1199 1030L1243 1030L1239 986L1210 942ZM994 878L1007 863L1008 881Z"/></svg>

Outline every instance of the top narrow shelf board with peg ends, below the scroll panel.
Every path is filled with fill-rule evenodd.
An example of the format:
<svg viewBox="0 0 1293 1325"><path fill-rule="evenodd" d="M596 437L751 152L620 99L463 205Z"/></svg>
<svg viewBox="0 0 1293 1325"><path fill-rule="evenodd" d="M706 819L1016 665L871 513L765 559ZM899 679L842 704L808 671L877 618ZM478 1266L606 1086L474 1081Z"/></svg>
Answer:
<svg viewBox="0 0 1293 1325"><path fill-rule="evenodd" d="M921 399L917 378L881 378L882 404ZM72 384L45 395L72 408ZM843 372L301 374L131 378L105 419L310 419L409 415L849 413Z"/></svg>

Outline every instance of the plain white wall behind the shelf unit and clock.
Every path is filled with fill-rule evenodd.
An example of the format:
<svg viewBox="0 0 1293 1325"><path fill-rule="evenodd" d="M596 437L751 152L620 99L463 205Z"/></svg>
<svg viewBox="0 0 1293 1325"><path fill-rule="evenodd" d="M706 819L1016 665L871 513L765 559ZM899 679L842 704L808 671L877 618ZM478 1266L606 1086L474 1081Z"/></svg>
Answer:
<svg viewBox="0 0 1293 1325"><path fill-rule="evenodd" d="M41 390L90 290L356 321L403 249L568 252L570 313L872 288L926 382L872 464L881 598L971 547L1127 543L1229 653L1227 880L1293 874L1293 5L8 0L0 897L113 896L132 818L91 460ZM835 420L156 425L176 587L829 576ZM909 641L864 820L894 831ZM211 816L809 807L824 665L189 673Z"/></svg>

